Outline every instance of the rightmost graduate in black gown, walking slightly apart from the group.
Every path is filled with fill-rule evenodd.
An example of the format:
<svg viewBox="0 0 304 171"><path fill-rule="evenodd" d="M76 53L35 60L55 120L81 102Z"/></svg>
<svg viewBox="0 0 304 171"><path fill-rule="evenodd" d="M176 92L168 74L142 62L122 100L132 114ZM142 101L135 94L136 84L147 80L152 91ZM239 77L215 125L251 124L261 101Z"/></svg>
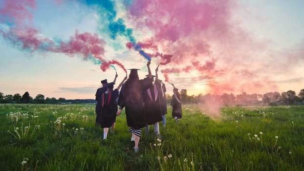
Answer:
<svg viewBox="0 0 304 171"><path fill-rule="evenodd" d="M182 118L181 98L180 98L180 94L178 92L178 89L175 88L175 86L173 88L173 93L174 94L172 96L172 101L171 101L172 118L175 118L176 122L179 122L179 119Z"/></svg>

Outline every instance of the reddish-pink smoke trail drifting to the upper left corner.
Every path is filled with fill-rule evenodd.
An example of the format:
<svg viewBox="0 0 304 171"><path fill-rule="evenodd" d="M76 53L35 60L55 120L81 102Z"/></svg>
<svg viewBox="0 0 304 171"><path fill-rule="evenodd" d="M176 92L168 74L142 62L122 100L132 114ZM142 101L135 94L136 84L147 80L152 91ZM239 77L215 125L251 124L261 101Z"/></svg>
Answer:
<svg viewBox="0 0 304 171"><path fill-rule="evenodd" d="M31 52L40 50L54 53L64 53L69 56L80 54L84 59L89 55L102 62L100 68L106 71L110 64L117 64L125 72L123 64L112 60L107 62L102 58L105 53L104 46L106 42L100 39L97 34L88 32L78 33L70 36L68 41L54 42L44 37L37 29L30 27L28 22L31 21L32 15L29 9L36 7L35 0L5 0L3 7L0 9L1 22L10 22L12 26L8 31L0 30L3 38L10 41L22 49Z"/></svg>

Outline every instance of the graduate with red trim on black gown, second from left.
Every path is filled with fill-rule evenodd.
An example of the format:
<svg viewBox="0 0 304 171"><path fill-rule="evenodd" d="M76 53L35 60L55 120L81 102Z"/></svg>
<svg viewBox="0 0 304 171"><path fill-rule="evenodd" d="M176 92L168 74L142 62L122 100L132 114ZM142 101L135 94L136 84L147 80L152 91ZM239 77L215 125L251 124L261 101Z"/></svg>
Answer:
<svg viewBox="0 0 304 171"><path fill-rule="evenodd" d="M102 109L101 109L101 128L104 128L104 138L107 139L109 128L111 131L115 128L116 113L117 113L117 101L119 94L119 89L123 83L127 80L127 76L124 80L118 85L116 89L113 90L113 85L115 83L109 83L108 89L101 96L102 99Z"/></svg>

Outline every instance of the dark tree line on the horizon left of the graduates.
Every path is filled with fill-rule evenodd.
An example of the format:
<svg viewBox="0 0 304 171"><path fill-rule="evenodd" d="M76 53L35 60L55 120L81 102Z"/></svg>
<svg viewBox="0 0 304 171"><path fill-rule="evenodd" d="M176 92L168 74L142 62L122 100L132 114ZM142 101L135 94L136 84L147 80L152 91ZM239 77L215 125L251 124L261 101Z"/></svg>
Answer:
<svg viewBox="0 0 304 171"><path fill-rule="evenodd" d="M66 100L63 97L56 99L55 97L44 98L43 94L36 95L35 98L32 98L29 93L26 91L22 96L17 93L15 95L3 95L0 92L0 103L20 103L20 104L87 104L95 103L94 99L74 99Z"/></svg>

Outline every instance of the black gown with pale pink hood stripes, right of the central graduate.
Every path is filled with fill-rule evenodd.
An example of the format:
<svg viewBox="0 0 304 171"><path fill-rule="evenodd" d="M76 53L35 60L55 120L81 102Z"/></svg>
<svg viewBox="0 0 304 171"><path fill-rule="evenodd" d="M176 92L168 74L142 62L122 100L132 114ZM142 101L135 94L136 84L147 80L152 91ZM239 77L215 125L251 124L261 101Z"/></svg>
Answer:
<svg viewBox="0 0 304 171"><path fill-rule="evenodd" d="M150 91L151 97L148 94L148 91ZM150 88L144 90L143 99L147 124L152 125L156 122L162 121L163 118L161 116L159 92L157 85L154 84Z"/></svg>

